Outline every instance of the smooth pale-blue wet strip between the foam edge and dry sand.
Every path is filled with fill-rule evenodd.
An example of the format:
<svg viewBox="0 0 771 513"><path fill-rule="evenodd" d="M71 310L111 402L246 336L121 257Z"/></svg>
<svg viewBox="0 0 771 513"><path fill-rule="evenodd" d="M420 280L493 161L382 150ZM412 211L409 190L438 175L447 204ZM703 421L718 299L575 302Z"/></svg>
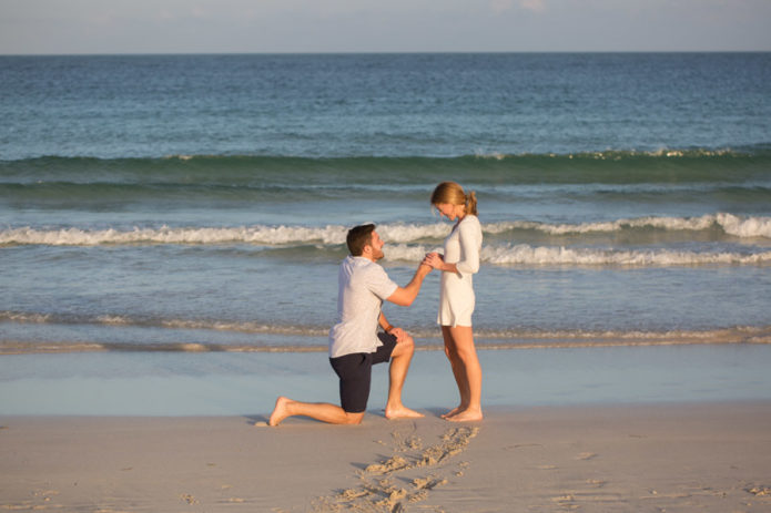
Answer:
<svg viewBox="0 0 771 513"><path fill-rule="evenodd" d="M678 346L483 350L487 407L771 400L769 346ZM375 367L368 411L385 404ZM326 355L22 355L0 359L0 414L264 415L286 394L337 401ZM455 406L439 351L416 352L405 402Z"/></svg>

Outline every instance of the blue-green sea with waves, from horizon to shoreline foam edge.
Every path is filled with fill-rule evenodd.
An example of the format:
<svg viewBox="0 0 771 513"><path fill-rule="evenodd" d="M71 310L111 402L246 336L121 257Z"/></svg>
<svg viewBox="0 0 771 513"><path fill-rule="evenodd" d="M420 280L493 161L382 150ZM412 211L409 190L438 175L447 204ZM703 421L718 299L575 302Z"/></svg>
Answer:
<svg viewBox="0 0 771 513"><path fill-rule="evenodd" d="M769 53L0 57L0 353L324 350L347 227L404 285L445 179L480 345L771 342Z"/></svg>

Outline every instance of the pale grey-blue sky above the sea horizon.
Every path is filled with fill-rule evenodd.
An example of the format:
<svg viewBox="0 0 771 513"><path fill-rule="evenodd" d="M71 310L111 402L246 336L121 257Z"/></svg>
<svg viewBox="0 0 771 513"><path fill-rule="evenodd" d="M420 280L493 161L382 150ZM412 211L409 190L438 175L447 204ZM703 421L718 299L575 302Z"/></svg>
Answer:
<svg viewBox="0 0 771 513"><path fill-rule="evenodd" d="M771 51L771 0L0 0L0 53Z"/></svg>

